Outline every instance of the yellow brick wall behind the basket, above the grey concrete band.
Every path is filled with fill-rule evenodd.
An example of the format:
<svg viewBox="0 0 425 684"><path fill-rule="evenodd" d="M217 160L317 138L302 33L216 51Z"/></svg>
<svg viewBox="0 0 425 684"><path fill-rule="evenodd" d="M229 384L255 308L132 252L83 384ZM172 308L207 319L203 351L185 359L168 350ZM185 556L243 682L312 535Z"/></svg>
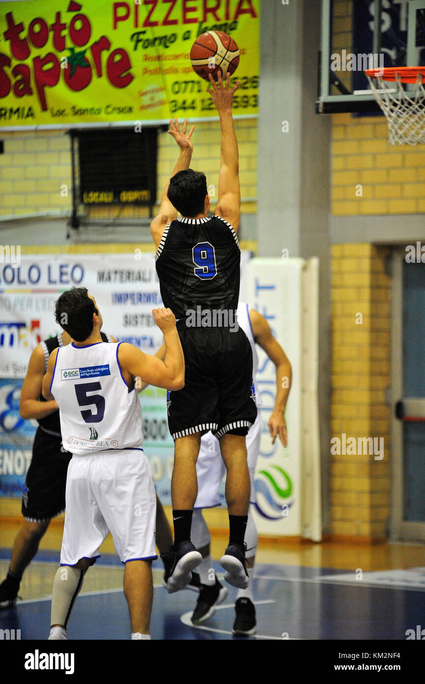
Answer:
<svg viewBox="0 0 425 684"><path fill-rule="evenodd" d="M335 1L331 53L352 51L352 28L353 0ZM351 72L336 74L351 90ZM333 215L425 212L425 145L390 145L384 116L333 114L332 124Z"/></svg>

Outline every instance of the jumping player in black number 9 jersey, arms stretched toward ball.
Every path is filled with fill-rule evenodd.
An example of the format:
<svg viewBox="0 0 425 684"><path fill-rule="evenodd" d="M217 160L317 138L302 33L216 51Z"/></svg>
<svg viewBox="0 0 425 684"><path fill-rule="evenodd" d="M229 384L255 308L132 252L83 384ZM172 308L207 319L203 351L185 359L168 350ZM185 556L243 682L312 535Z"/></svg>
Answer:
<svg viewBox="0 0 425 684"><path fill-rule="evenodd" d="M221 124L221 168L215 212L208 218L206 177L189 168L193 127L182 131L177 120L168 131L180 157L161 196L151 224L156 272L164 306L172 308L186 367L184 388L167 393L169 430L174 438L172 504L174 547L169 592L183 588L199 555L190 541L197 495L195 464L202 434L211 430L220 441L227 471L230 540L221 565L225 579L247 586L244 536L249 509L249 472L245 435L257 409L252 385L251 345L235 319L241 252L236 233L241 218L238 144L232 118L235 90L210 77L210 93ZM178 220L178 213L182 219Z"/></svg>

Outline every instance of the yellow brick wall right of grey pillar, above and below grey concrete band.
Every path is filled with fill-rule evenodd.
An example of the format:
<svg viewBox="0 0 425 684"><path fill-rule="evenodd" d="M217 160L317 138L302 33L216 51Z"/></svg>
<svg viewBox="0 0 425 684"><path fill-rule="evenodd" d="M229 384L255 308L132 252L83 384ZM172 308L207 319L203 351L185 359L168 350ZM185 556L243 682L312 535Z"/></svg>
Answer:
<svg viewBox="0 0 425 684"><path fill-rule="evenodd" d="M331 53L353 51L352 16L352 0L333 3ZM351 89L351 73L338 76ZM424 145L389 145L383 116L333 114L333 215L425 212L424 152ZM331 437L384 440L382 460L369 453L332 454L329 446L331 532L337 538L385 538L391 494L385 402L391 316L385 250L372 244L335 244L331 250ZM356 323L359 313L361 324Z"/></svg>

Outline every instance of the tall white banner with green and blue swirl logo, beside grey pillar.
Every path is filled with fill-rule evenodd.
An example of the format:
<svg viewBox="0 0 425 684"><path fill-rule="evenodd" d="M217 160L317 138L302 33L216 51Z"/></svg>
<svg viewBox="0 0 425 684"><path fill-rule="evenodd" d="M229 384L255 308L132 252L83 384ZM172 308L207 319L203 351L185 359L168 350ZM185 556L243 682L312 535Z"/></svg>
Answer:
<svg viewBox="0 0 425 684"><path fill-rule="evenodd" d="M258 349L256 393L263 428L255 479L254 518L260 534L269 536L310 536L303 516L303 431L305 421L309 421L302 412L303 364L307 348L316 344L316 334L303 326L303 308L307 302L310 307L314 306L317 286L314 278L305 281L306 266L304 259L251 259L245 274L249 306L269 322L273 336L292 365L292 386L285 414L288 445L284 447L278 439L272 445L267 422L275 404L276 383L284 383L286 378L276 378L275 366ZM310 356L314 365L317 355ZM314 373L313 378L316 378ZM314 406L317 395L314 386L310 389ZM318 461L318 453L315 456ZM311 514L319 516L320 522L320 507L313 506Z"/></svg>

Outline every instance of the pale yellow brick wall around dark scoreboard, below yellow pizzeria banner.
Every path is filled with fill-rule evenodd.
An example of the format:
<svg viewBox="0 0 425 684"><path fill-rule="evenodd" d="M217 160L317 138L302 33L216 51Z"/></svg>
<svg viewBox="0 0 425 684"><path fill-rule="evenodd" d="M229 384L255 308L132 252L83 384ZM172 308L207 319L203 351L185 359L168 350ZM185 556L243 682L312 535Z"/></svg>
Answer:
<svg viewBox="0 0 425 684"><path fill-rule="evenodd" d="M257 121L236 120L239 142L242 198L257 194ZM3 132L4 154L0 155L0 215L19 215L71 209L70 139L64 131ZM220 129L218 122L198 123L193 134L192 166L207 174L208 183L218 183ZM167 133L159 134L158 199L178 157L178 147ZM68 196L61 196L66 185ZM62 190L64 192L64 190ZM211 198L212 205L215 204ZM118 207L93 207L92 218L114 216ZM256 202L244 202L244 213L256 213ZM123 218L147 215L146 209L120 209Z"/></svg>

